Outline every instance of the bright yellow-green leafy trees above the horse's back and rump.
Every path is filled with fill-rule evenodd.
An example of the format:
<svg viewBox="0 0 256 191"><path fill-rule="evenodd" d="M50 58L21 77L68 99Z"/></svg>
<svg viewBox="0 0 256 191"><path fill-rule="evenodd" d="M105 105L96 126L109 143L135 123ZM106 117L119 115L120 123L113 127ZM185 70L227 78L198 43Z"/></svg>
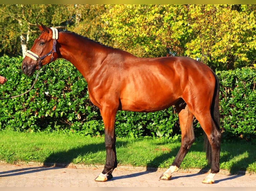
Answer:
<svg viewBox="0 0 256 191"><path fill-rule="evenodd" d="M109 45L141 57L170 53L213 69L255 63L254 5L107 5ZM172 54L171 54L172 55Z"/></svg>

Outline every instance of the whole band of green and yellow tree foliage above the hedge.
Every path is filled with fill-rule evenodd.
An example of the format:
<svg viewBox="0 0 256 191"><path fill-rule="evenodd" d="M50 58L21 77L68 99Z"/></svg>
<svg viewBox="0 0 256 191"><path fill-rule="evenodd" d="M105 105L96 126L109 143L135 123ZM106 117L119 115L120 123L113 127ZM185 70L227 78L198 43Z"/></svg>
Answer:
<svg viewBox="0 0 256 191"><path fill-rule="evenodd" d="M0 5L0 12L0 55L24 54L42 22L139 57L189 56L218 70L256 64L255 5Z"/></svg>

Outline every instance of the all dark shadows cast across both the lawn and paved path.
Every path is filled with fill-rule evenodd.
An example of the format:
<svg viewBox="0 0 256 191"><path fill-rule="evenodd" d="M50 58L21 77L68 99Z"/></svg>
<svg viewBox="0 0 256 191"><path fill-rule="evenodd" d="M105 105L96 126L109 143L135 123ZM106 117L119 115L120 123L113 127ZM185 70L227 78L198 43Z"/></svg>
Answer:
<svg viewBox="0 0 256 191"><path fill-rule="evenodd" d="M138 140L135 139L134 141L139 142L140 139L138 139ZM124 147L124 148L128 149L128 147L130 146L129 144L130 144L129 141L121 141L121 140L118 140L116 143L117 149L119 147ZM166 143L159 143L159 145L161 145L161 144L166 144ZM240 157L240 160L236 160L236 162L234 162L230 168L231 174L240 174L240 175L229 176L225 179L216 181L216 183L225 181L225 180L229 180L229 179L235 179L241 175L245 175L245 170L249 166L249 164L255 162L256 153L253 152L253 150L255 149L255 145L250 147L249 143L243 143L243 144L244 145L241 146L239 151L237 151L238 148L234 148L234 145L238 145L238 144L233 144L233 143L222 143L221 144L223 154L220 158L220 163L228 162L228 161L232 160L234 157L236 157L237 155L243 155L245 152L247 153L248 157L244 157L244 158ZM246 145L248 145L248 148L245 150L244 148L246 148L245 147ZM137 177L137 176L141 176L143 174L155 172L157 170L156 167L161 166L161 163L163 163L164 161L168 160L169 158L171 158L173 156L176 156L176 154L178 153L178 150L179 150L179 146L176 146L170 152L168 152L168 153L163 152L159 156L155 157L152 161L147 163L145 171L135 172L135 173L131 172L131 171L127 171L127 175L117 176L117 177L114 176L113 180ZM87 153L98 153L99 151L105 152L105 143L104 142L98 143L98 144L88 144L88 145L72 148L67 151L55 152L55 153L52 153L49 157L47 157L45 159L44 166L55 165L58 167L65 167L65 166L69 165L79 155L85 156ZM191 146L189 152L191 152L191 151L202 152L203 151L203 142L196 141L196 144L193 144ZM105 158L104 158L104 160L105 160ZM171 164L169 164L169 165L171 165ZM35 173L38 171L45 171L45 170L50 170L50 169L52 169L52 168L29 167L29 168L23 168L22 170L16 170L16 171L10 170L10 171L5 171L5 172L0 172L0 177L17 176L20 174ZM102 169L99 169L99 172L101 170ZM194 174L189 174L189 175L186 174L184 176L177 176L177 177L175 177L175 173L174 173L172 179L177 179L179 177L197 176L199 174L206 173L209 170L210 170L210 166L206 165L199 171L199 173L194 173ZM159 177L156 177L156 178L159 178Z"/></svg>

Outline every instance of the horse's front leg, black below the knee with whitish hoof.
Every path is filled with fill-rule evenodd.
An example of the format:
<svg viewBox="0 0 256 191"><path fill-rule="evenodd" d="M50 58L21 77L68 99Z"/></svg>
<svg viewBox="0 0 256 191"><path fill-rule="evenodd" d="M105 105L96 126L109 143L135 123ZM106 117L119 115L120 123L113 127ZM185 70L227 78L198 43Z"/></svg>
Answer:
<svg viewBox="0 0 256 191"><path fill-rule="evenodd" d="M105 126L105 146L107 151L106 163L102 173L98 175L95 181L105 182L111 178L113 170L117 167L116 157L116 135L115 135L115 117L117 110L105 108L100 110Z"/></svg>

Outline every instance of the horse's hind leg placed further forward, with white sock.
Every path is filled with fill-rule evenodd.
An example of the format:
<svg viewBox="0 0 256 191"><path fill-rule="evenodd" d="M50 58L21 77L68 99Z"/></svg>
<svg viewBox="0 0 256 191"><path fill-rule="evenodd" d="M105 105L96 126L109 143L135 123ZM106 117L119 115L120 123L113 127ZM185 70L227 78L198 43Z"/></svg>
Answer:
<svg viewBox="0 0 256 191"><path fill-rule="evenodd" d="M183 102L184 103L184 102ZM185 104L185 103L184 103ZM179 123L181 129L181 146L170 168L168 168L161 176L160 180L170 180L173 172L178 171L179 166L184 159L188 149L195 141L195 134L193 129L194 115L188 110L187 105L175 105L178 111Z"/></svg>

